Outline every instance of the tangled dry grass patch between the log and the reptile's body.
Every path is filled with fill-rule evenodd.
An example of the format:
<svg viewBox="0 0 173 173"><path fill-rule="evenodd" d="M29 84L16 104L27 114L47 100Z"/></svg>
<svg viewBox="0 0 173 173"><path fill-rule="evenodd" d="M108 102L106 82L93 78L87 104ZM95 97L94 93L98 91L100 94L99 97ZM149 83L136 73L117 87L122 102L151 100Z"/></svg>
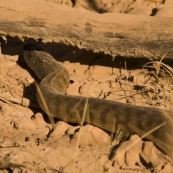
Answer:
<svg viewBox="0 0 173 173"><path fill-rule="evenodd" d="M146 69L141 75L134 74L133 70L127 69L125 62L125 72L117 75L116 81L120 88L112 90L115 101L140 105L171 109L173 103L173 68L163 63L168 51L161 57L160 61L151 61L143 65ZM147 71L148 70L148 71ZM145 80L144 80L145 79ZM120 92L124 95L120 96ZM141 96L140 102L136 98Z"/></svg>

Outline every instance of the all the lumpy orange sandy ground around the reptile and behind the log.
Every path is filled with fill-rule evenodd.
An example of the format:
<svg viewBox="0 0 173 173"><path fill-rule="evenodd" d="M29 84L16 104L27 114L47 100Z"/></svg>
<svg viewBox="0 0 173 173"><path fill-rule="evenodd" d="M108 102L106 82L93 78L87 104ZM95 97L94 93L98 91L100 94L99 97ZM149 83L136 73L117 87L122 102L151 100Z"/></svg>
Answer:
<svg viewBox="0 0 173 173"><path fill-rule="evenodd" d="M171 1L162 4L129 0L126 5L123 1L52 2L100 13L166 17L172 14L163 10L172 8ZM143 9L143 3L147 10ZM150 64L152 68L142 68L148 62L146 59L113 59L109 55L63 46L58 48L63 53L56 54L47 48L70 73L66 94L172 109L172 78L162 71L158 81L155 64ZM0 78L0 172L173 172L171 159L151 141L143 141L137 135L119 146L119 140L112 141L110 134L91 125L79 127L56 121L52 132L52 125L35 98L33 81L37 78L27 67L21 52L14 56L0 54ZM139 142L132 145L136 140Z"/></svg>

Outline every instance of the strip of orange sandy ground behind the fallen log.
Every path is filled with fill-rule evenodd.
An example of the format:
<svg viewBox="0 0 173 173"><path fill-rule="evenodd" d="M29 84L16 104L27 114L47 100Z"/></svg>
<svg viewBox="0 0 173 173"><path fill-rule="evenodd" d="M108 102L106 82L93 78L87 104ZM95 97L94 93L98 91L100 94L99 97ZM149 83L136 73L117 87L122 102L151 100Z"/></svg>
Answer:
<svg viewBox="0 0 173 173"><path fill-rule="evenodd" d="M97 13L126 13L146 16L173 17L171 0L45 0Z"/></svg>

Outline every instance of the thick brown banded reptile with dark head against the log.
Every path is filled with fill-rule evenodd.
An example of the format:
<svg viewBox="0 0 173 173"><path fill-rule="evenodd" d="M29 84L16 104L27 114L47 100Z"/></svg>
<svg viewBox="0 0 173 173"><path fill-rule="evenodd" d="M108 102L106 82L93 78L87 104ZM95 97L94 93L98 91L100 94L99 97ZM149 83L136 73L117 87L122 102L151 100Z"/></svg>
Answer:
<svg viewBox="0 0 173 173"><path fill-rule="evenodd" d="M83 110L87 104L84 122L124 137L129 132L142 136L156 126L164 126L145 138L154 142L164 153L173 158L173 113L172 111L135 106L110 100L65 95L69 86L69 73L44 48L27 43L24 59L41 80L39 87L48 109L54 118L81 125ZM37 94L40 107L42 102Z"/></svg>

